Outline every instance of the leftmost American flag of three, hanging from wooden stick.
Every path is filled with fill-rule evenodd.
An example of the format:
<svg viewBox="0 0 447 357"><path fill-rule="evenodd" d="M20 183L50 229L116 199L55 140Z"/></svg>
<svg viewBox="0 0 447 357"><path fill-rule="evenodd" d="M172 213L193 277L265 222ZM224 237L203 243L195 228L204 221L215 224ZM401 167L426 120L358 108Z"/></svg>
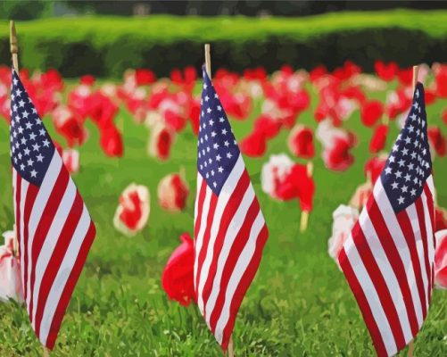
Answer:
<svg viewBox="0 0 447 357"><path fill-rule="evenodd" d="M23 292L37 337L53 349L95 225L14 70L10 136Z"/></svg>

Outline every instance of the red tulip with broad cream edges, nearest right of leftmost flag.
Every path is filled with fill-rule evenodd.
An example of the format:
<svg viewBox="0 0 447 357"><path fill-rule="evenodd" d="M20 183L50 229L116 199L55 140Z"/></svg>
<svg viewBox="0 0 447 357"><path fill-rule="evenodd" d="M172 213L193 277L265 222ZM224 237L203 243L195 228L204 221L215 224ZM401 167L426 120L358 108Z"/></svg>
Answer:
<svg viewBox="0 0 447 357"><path fill-rule="evenodd" d="M149 189L130 184L120 195L113 225L128 237L135 236L145 228L150 212Z"/></svg>

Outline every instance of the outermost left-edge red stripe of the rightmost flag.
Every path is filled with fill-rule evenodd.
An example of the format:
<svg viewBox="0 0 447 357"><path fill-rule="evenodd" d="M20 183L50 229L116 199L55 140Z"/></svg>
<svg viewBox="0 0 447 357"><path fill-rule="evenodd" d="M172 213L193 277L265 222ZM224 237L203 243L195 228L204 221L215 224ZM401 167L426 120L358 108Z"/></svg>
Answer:
<svg viewBox="0 0 447 357"><path fill-rule="evenodd" d="M351 262L349 262L344 248L342 248L340 254L338 255L338 262L344 272L344 276L346 277L349 286L351 287L352 294L359 304L363 320L365 320L365 323L368 327L369 335L371 335L374 347L376 347L377 355L388 356L384 340L382 339L380 330L377 327L376 320L374 319L374 316L372 314L365 292L361 288L354 270L352 270Z"/></svg>

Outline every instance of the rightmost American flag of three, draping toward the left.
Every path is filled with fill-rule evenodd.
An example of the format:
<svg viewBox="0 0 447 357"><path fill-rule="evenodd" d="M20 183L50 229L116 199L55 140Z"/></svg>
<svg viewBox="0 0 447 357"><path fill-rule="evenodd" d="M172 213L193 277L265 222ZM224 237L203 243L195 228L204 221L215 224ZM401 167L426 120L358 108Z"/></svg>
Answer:
<svg viewBox="0 0 447 357"><path fill-rule="evenodd" d="M339 262L379 356L397 353L426 319L434 283L434 195L424 87Z"/></svg>

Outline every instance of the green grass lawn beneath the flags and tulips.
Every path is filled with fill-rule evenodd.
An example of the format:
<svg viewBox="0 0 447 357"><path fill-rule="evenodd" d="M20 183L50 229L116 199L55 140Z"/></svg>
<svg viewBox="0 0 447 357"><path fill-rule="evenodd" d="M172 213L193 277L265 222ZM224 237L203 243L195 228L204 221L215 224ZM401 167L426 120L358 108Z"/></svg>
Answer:
<svg viewBox="0 0 447 357"><path fill-rule="evenodd" d="M383 96L378 95L382 100ZM315 107L315 95L312 104ZM441 124L446 101L428 108L430 123ZM254 115L253 115L254 116ZM249 132L252 119L231 120L236 138ZM310 111L299 119L315 127ZM107 159L98 150L98 136L80 149L82 172L74 177L96 222L97 237L70 302L54 356L219 356L219 346L195 306L171 302L161 289L161 270L178 236L193 230L195 196L195 136L186 129L174 145L169 162L145 154L148 133L127 112L118 121L125 133L126 152L120 160ZM48 124L47 124L48 125ZM48 125L49 126L49 125ZM269 226L269 241L261 267L236 320L237 356L371 356L374 350L343 274L327 254L332 212L347 203L364 181L368 158L368 129L355 112L346 123L360 136L353 153L356 162L342 173L315 160L315 210L307 232L300 234L296 202L278 203L261 191L260 170L268 156L244 160ZM397 129L393 127L394 137ZM52 131L53 132L53 131ZM283 131L269 143L269 154L287 152ZM11 173L7 126L0 122L0 230L12 228ZM391 142L388 143L390 147ZM186 212L163 212L156 187L164 175L186 165L191 195ZM435 160L438 202L447 206L447 166ZM123 237L112 226L118 196L130 182L150 187L151 216L137 237ZM426 323L416 340L417 356L447 355L447 299L436 290ZM42 347L29 325L25 309L0 304L0 355L40 356ZM405 353L401 353L404 356Z"/></svg>

